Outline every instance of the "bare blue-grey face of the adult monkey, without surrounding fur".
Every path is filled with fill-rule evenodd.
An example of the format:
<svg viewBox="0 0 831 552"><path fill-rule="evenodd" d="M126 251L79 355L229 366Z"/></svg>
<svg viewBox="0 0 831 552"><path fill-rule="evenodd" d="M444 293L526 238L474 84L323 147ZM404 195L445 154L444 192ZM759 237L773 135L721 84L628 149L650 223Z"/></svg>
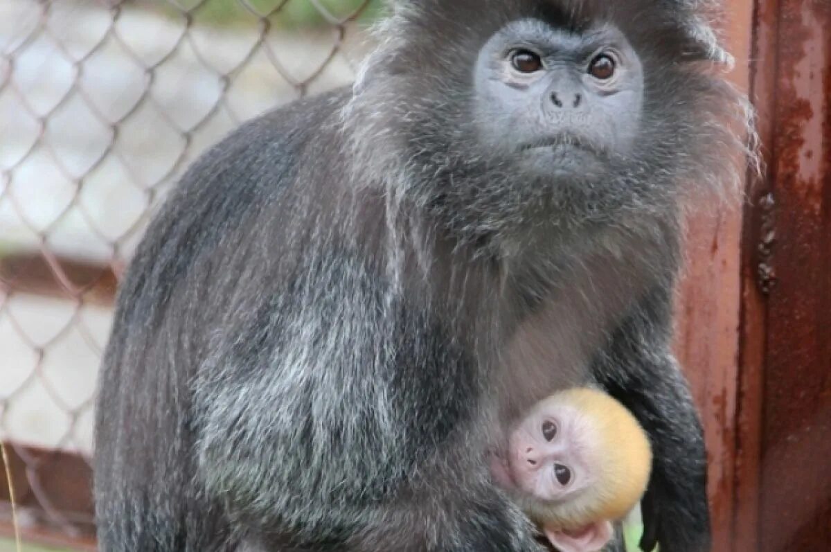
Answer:
<svg viewBox="0 0 831 552"><path fill-rule="evenodd" d="M602 174L640 131L642 64L612 25L577 33L511 22L479 52L474 78L484 150L535 176Z"/></svg>

